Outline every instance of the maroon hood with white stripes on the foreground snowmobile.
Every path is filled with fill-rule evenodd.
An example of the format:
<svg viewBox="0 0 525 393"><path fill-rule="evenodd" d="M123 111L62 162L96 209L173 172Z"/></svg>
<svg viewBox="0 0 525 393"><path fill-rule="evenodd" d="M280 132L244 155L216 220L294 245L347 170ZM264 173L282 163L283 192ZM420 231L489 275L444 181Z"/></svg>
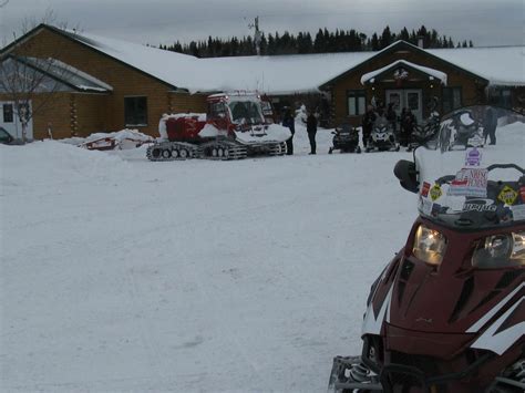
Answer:
<svg viewBox="0 0 525 393"><path fill-rule="evenodd" d="M421 226L446 238L437 266L414 255ZM525 231L525 224L508 231ZM466 343L503 353L525 329L525 268L472 265L480 241L501 234L498 229L459 231L419 218L404 250L372 289L363 334L384 334L389 349L400 352L421 353L426 343L424 353L440 358L452 356Z"/></svg>

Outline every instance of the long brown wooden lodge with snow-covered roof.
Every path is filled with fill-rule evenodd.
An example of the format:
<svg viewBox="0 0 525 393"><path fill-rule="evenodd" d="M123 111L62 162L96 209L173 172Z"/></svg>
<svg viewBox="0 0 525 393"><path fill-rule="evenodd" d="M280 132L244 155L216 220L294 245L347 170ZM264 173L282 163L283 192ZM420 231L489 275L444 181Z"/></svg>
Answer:
<svg viewBox="0 0 525 393"><path fill-rule="evenodd" d="M30 138L124 128L157 136L162 114L205 112L208 94L238 90L267 94L277 110L305 103L326 125L360 124L373 101L410 107L419 121L433 97L442 114L481 103L523 111L524 53L398 41L378 52L197 59L41 24L1 50L0 76L22 69L41 76L28 108ZM11 93L0 89L0 126L20 136Z"/></svg>

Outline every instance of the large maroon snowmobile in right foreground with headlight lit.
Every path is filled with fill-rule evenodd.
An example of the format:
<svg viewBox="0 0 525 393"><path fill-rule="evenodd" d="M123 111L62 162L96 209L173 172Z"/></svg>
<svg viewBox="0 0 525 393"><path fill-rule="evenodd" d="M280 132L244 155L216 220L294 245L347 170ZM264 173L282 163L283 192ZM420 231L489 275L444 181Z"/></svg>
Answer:
<svg viewBox="0 0 525 393"><path fill-rule="evenodd" d="M330 392L525 391L525 116L503 115L497 146L451 151L440 135L395 165L419 217L371 287L361 355L334 358Z"/></svg>

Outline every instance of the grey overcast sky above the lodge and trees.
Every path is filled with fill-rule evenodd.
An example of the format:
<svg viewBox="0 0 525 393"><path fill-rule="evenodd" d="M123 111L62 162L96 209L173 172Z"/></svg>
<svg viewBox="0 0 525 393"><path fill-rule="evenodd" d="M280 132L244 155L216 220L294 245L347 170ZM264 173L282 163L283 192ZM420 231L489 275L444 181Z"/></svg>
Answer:
<svg viewBox="0 0 525 393"><path fill-rule="evenodd" d="M524 0L0 0L2 42L27 21L54 23L133 42L173 43L319 28L380 33L421 24L477 46L524 44ZM25 22L25 23L24 23Z"/></svg>

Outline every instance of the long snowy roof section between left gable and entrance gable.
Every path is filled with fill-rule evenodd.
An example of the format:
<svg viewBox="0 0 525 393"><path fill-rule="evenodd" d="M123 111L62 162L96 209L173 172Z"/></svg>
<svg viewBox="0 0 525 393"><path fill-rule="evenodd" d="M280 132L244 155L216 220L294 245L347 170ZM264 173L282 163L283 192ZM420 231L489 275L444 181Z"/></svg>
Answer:
<svg viewBox="0 0 525 393"><path fill-rule="evenodd" d="M175 87L195 92L257 90L287 94L316 92L328 80L373 52L198 59L94 34L70 37Z"/></svg>

